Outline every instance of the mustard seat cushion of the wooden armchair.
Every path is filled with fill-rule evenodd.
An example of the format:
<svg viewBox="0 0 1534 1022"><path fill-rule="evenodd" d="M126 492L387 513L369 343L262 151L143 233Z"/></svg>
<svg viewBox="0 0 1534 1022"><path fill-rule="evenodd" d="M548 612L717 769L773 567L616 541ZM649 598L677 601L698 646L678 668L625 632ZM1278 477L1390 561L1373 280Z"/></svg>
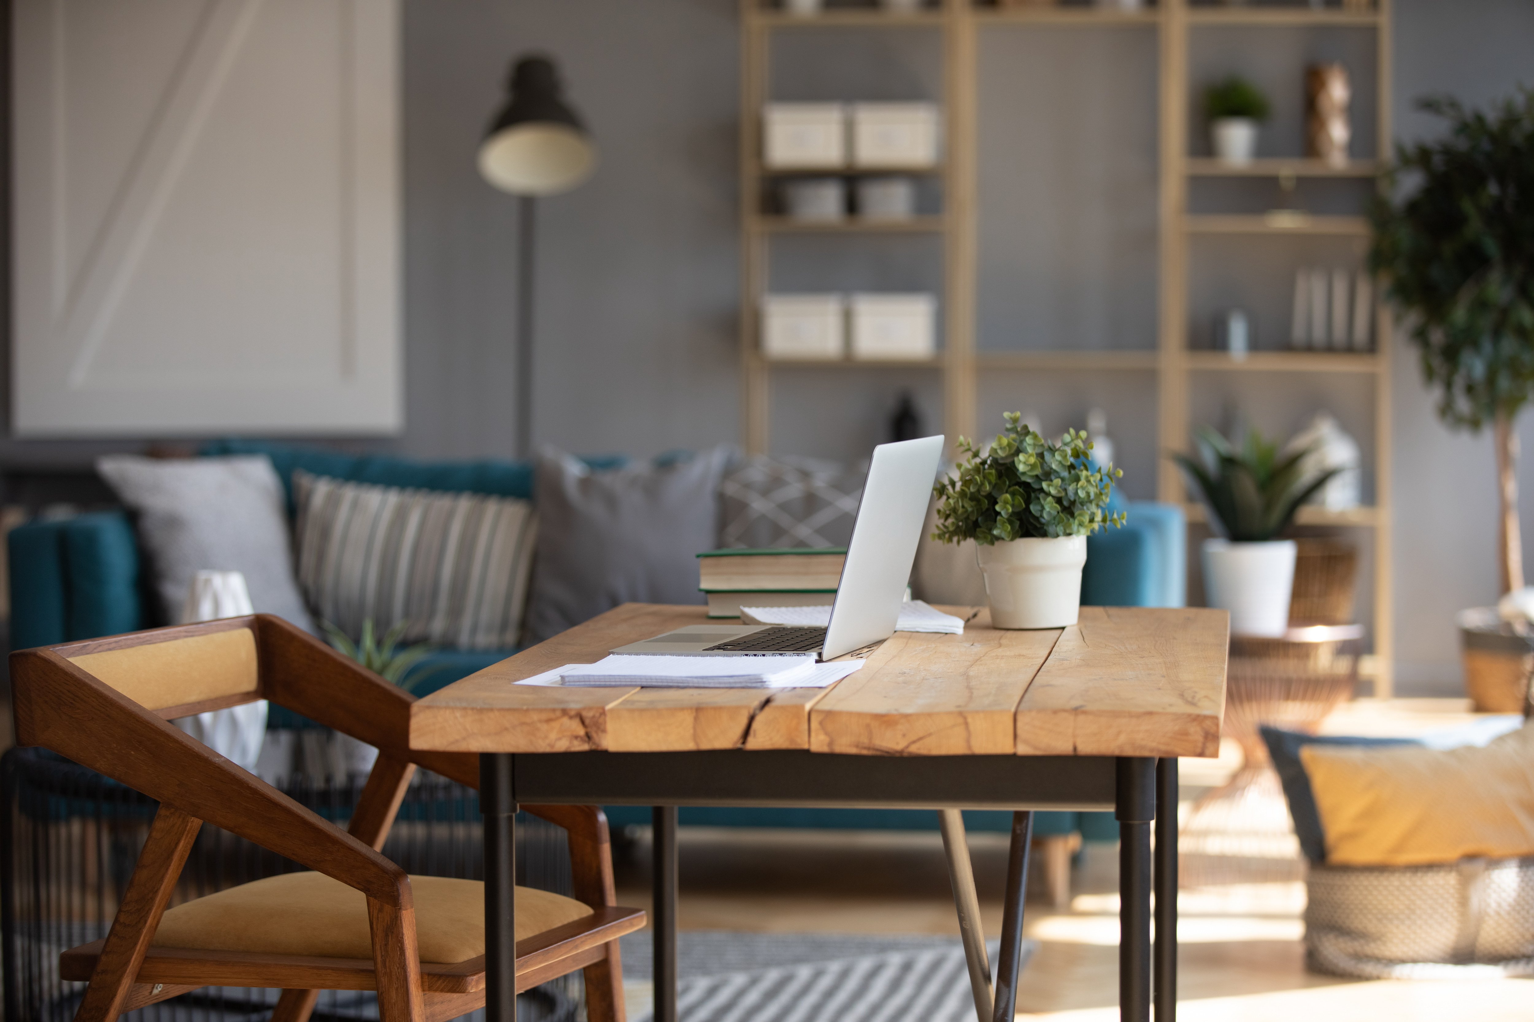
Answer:
<svg viewBox="0 0 1534 1022"><path fill-rule="evenodd" d="M420 961L454 964L485 953L485 884L411 876ZM591 907L517 887L517 939L589 916ZM373 958L368 904L324 873L284 873L230 887L166 912L155 947L316 958Z"/></svg>

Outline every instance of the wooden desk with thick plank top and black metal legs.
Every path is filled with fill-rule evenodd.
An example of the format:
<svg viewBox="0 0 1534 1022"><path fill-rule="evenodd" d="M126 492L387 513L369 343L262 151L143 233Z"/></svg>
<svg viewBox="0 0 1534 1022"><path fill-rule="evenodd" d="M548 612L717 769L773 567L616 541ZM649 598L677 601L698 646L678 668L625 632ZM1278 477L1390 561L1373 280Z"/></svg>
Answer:
<svg viewBox="0 0 1534 1022"><path fill-rule="evenodd" d="M1174 1017L1177 757L1220 749L1223 611L1083 607L1071 628L1000 631L982 610L962 636L896 633L827 690L512 685L703 621L703 607L627 604L411 708L413 748L482 754L489 1022L515 1017L518 801L657 806L657 1022L675 1019L676 806L1014 811L996 994L1006 1022L1035 809L1118 817L1121 1013L1149 1019L1155 821L1157 1019Z"/></svg>

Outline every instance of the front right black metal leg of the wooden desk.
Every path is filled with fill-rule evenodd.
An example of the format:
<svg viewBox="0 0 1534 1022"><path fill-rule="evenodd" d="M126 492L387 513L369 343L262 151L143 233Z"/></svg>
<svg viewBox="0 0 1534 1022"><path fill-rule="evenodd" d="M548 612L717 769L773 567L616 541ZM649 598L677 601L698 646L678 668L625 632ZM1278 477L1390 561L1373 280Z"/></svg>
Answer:
<svg viewBox="0 0 1534 1022"><path fill-rule="evenodd" d="M1120 757L1118 820L1118 1017L1150 1022L1150 821L1155 760Z"/></svg>

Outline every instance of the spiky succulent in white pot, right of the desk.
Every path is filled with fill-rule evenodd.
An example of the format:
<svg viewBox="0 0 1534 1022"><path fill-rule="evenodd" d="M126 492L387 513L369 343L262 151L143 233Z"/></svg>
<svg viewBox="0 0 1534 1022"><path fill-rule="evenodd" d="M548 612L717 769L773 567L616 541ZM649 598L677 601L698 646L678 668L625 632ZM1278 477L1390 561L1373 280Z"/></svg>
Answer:
<svg viewBox="0 0 1534 1022"><path fill-rule="evenodd" d="M1239 450L1209 426L1198 431L1195 443L1197 458L1172 458L1209 509L1209 524L1223 533L1204 539L1204 599L1230 611L1232 634L1282 636L1298 545L1278 536L1341 469L1309 473L1310 447L1281 455L1278 444L1255 429Z"/></svg>

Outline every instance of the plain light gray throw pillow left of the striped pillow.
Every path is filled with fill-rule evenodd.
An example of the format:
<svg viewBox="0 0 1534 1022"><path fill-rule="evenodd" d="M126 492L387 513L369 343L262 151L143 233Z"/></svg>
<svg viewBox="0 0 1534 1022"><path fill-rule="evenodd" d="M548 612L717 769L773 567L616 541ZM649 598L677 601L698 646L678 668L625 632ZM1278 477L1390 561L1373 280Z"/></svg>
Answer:
<svg viewBox="0 0 1534 1022"><path fill-rule="evenodd" d="M256 613L314 631L293 578L287 498L265 455L109 455L97 472L135 515L166 621L181 619L202 568L241 572Z"/></svg>

